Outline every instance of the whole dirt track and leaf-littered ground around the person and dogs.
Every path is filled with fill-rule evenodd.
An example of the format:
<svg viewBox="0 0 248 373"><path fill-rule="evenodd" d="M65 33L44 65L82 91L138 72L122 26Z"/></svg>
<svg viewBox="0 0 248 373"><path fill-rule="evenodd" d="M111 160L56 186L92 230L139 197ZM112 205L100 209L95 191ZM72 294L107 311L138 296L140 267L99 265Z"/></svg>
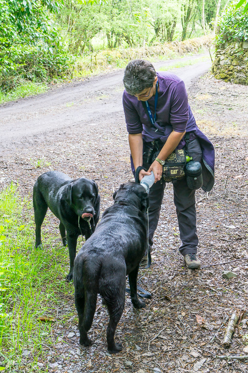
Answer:
<svg viewBox="0 0 248 373"><path fill-rule="evenodd" d="M45 341L40 372L247 372L245 360L230 363L215 355L244 355L242 336L248 333L246 315L231 348L221 345L231 313L246 308L248 302L248 261L239 261L248 257L248 92L245 86L217 81L209 73L197 78L209 66L207 62L175 71L186 82L199 127L216 148L216 185L210 193L197 192L199 255L208 267L200 271L184 267L168 185L155 233L153 264L140 271L140 286L151 291L153 298L137 312L126 297L116 333L123 352L106 355L108 316L100 300L90 333L94 344L78 349L72 295L62 298L59 309L51 304L51 315L60 312L63 325L52 329L54 344L49 349ZM95 77L2 106L0 186L18 181L20 193L27 195L40 173L62 170L71 177L97 181L101 211L112 204L113 188L133 178L121 102L122 74ZM43 167L35 168L40 159ZM51 215L48 219L54 222L50 231L60 244L58 222ZM227 264L216 266L223 262ZM223 270L236 272L238 278L223 280ZM203 318L202 325L196 315ZM72 338L71 331L75 332ZM28 362L24 359L23 366Z"/></svg>

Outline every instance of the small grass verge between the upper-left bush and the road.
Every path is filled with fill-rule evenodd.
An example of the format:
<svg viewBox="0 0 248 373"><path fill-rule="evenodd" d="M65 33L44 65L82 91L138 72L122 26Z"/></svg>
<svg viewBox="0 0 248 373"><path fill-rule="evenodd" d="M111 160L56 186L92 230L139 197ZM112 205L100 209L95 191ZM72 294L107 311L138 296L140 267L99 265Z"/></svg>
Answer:
<svg viewBox="0 0 248 373"><path fill-rule="evenodd" d="M37 95L39 93L44 93L48 89L47 85L44 83L31 83L25 82L17 85L16 88L8 93L0 91L0 103L14 101L21 99L26 96Z"/></svg>

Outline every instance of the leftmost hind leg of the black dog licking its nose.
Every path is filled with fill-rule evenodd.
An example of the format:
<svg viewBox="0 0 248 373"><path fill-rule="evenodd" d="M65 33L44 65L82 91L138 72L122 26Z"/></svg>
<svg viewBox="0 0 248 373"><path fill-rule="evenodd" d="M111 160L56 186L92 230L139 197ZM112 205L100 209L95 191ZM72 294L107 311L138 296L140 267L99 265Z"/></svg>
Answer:
<svg viewBox="0 0 248 373"><path fill-rule="evenodd" d="M41 226L47 214L47 203L38 189L37 184L33 186L33 209L35 221L35 247L41 246Z"/></svg>

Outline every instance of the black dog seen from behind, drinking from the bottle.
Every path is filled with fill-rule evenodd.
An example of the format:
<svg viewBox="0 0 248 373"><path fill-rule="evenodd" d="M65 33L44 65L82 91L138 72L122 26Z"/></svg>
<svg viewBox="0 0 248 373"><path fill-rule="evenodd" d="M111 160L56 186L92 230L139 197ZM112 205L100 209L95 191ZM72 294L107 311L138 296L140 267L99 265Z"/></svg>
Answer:
<svg viewBox="0 0 248 373"><path fill-rule="evenodd" d="M99 293L109 310L108 351L122 350L114 334L125 302L125 279L128 274L132 304L145 307L137 296L140 260L147 247L148 195L140 184L122 184L114 193L115 203L102 216L95 233L75 259L74 286L78 311L79 343L89 346L91 328Z"/></svg>

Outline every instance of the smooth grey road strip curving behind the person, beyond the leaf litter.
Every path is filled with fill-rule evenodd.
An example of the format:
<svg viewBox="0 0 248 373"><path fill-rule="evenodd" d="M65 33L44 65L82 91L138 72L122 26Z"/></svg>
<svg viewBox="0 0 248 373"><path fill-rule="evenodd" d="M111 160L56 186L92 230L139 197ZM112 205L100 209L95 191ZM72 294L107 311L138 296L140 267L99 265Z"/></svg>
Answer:
<svg viewBox="0 0 248 373"><path fill-rule="evenodd" d="M155 64L156 68L202 55ZM178 71L188 87L210 67L209 61ZM0 154L14 146L41 143L46 138L77 132L88 125L124 122L122 107L123 70L51 89L45 94L0 106ZM75 127L75 128L74 128ZM80 130L79 130L80 131Z"/></svg>

